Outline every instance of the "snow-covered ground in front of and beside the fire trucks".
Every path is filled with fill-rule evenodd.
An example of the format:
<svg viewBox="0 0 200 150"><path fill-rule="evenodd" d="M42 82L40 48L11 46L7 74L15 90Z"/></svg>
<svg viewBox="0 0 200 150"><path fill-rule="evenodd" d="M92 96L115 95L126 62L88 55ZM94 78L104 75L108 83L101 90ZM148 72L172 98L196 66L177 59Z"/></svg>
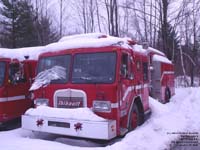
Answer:
<svg viewBox="0 0 200 150"><path fill-rule="evenodd" d="M21 128L0 132L2 150L163 150L168 149L179 133L200 136L200 88L179 88L168 104L150 98L152 115L142 126L112 145L52 134L33 134ZM95 132L95 131L94 131Z"/></svg>

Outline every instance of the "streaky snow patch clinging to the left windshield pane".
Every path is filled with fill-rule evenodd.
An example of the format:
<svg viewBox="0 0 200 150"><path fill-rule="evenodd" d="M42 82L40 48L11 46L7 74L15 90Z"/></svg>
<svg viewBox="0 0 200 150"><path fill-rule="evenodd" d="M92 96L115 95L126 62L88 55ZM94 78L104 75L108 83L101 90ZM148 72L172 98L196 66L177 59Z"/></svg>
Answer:
<svg viewBox="0 0 200 150"><path fill-rule="evenodd" d="M50 84L52 80L66 79L66 69L61 66L54 66L50 69L40 72L33 82L29 91L37 90L42 86Z"/></svg>

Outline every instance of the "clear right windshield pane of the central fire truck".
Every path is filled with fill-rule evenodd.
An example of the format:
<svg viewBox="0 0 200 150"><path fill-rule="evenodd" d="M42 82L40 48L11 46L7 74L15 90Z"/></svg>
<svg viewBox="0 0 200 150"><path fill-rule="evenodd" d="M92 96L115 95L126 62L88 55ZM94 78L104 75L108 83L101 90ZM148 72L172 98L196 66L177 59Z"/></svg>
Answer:
<svg viewBox="0 0 200 150"><path fill-rule="evenodd" d="M72 83L113 83L116 53L77 54L74 57Z"/></svg>

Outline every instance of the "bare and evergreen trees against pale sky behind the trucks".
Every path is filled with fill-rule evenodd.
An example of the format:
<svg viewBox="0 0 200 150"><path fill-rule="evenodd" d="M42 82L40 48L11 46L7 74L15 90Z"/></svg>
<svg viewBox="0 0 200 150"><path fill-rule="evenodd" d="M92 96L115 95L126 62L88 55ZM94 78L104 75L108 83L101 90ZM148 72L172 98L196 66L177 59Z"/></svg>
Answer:
<svg viewBox="0 0 200 150"><path fill-rule="evenodd" d="M198 86L199 18L200 0L0 0L0 47L42 46L92 32L131 37L164 52L176 76Z"/></svg>

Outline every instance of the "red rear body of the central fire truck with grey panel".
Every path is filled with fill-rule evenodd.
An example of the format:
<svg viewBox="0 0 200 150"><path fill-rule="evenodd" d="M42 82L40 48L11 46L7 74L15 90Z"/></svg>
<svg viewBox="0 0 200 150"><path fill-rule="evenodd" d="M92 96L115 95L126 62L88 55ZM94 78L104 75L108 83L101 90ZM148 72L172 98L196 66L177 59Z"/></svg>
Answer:
<svg viewBox="0 0 200 150"><path fill-rule="evenodd" d="M161 103L169 102L175 94L174 65L165 54L148 47L150 62L150 95Z"/></svg>

